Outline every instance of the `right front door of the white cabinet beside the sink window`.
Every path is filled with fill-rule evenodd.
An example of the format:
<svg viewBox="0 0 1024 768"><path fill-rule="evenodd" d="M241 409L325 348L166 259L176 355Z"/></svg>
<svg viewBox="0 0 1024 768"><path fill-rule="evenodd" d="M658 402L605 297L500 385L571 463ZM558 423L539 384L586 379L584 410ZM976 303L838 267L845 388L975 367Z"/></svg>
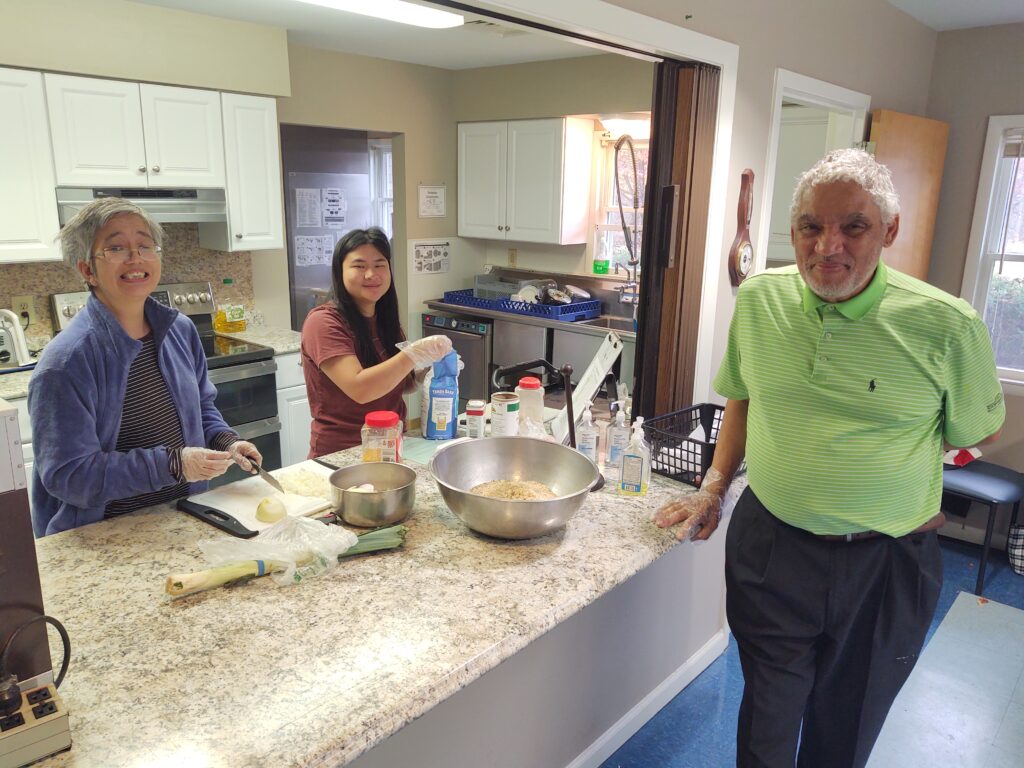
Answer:
<svg viewBox="0 0 1024 768"><path fill-rule="evenodd" d="M516 120L508 125L505 237L527 243L558 243L565 121Z"/></svg>

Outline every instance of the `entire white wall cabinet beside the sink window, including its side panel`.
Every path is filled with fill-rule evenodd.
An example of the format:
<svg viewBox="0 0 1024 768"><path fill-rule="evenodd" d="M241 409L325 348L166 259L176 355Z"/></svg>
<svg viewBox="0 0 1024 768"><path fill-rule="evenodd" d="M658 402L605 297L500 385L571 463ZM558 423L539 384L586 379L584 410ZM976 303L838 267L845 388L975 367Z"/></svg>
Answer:
<svg viewBox="0 0 1024 768"><path fill-rule="evenodd" d="M594 127L555 118L459 125L459 234L585 243Z"/></svg>

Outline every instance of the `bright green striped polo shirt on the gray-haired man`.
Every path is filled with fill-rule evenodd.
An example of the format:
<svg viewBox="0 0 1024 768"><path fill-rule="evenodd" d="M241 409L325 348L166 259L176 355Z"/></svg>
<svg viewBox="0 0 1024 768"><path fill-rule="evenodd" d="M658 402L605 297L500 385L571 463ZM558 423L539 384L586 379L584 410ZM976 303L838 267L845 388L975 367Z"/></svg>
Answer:
<svg viewBox="0 0 1024 768"><path fill-rule="evenodd" d="M978 313L882 262L836 304L796 265L744 281L715 389L750 399L758 499L814 534L913 530L939 511L943 439L973 445L1005 416Z"/></svg>

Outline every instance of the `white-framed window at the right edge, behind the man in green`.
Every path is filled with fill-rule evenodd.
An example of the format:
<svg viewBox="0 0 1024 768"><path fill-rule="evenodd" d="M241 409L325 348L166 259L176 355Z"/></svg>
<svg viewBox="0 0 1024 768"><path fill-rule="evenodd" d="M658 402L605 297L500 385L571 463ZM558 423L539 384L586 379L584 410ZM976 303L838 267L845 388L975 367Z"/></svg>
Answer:
<svg viewBox="0 0 1024 768"><path fill-rule="evenodd" d="M999 378L1024 384L1024 115L991 117L963 294L985 318Z"/></svg>

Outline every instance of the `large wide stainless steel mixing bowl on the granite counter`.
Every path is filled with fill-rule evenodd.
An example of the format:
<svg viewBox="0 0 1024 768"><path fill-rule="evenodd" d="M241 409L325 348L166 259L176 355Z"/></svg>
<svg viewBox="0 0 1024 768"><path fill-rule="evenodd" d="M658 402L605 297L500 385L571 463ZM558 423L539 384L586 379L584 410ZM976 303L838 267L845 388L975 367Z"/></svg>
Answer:
<svg viewBox="0 0 1024 768"><path fill-rule="evenodd" d="M583 454L535 437L457 440L430 462L449 509L473 530L499 539L531 539L563 527L600 473ZM536 480L556 499L509 501L469 493L488 480Z"/></svg>

